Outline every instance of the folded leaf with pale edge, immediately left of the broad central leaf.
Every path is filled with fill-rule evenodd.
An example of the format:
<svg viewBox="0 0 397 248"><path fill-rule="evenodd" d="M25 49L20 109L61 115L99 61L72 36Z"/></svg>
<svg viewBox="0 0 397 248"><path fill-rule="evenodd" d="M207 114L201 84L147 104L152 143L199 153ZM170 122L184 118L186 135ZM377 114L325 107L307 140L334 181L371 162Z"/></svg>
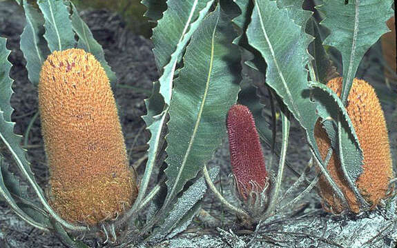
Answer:
<svg viewBox="0 0 397 248"><path fill-rule="evenodd" d="M209 2L212 3L212 1ZM152 4L153 1L149 0L146 1L146 3L149 5ZM190 40L193 32L197 29L198 25L200 25L206 12L208 12L209 8L211 7L211 4L207 3L206 5L204 5L204 10L202 10L202 4L202 1L200 2L200 5L197 5L197 1L168 1L168 6L171 7L168 7L168 10L164 12L164 18L159 21L157 27L153 30L152 39L153 43L155 44L153 52L155 53L157 68L159 69L159 71L162 71L162 68L164 68L164 66L166 68L164 68L164 74L162 74L162 77L160 77L159 82L153 83L152 96L149 99L145 100L147 114L146 116L142 116L142 118L146 123L147 129L151 132L151 138L148 141L148 161L146 162L146 169L141 183L141 188L144 190L139 191L133 209L135 208L135 206L139 205L140 201L144 197L146 187L153 172L153 167L157 160L157 155L162 148L160 143L162 142L162 130L166 121L168 107L166 107L164 111L163 108L165 103L169 103L169 101L171 101L173 76L178 57L182 54L186 43ZM189 6L190 8L188 8ZM180 12L180 10L184 9L190 11ZM193 22L195 18L197 18L197 20ZM180 20L184 20L184 23L182 23L183 25L177 25L178 23L180 24ZM168 23L175 23L177 27L171 27L168 25ZM175 35L179 35L179 38L175 37ZM158 41L156 41L156 39ZM173 49L164 50L163 45L165 45L165 47L167 48L171 47ZM169 63L167 64L168 61ZM163 86L160 85L160 82L163 83ZM166 95L160 94L161 87L169 87L165 90L166 92L168 92L166 93Z"/></svg>

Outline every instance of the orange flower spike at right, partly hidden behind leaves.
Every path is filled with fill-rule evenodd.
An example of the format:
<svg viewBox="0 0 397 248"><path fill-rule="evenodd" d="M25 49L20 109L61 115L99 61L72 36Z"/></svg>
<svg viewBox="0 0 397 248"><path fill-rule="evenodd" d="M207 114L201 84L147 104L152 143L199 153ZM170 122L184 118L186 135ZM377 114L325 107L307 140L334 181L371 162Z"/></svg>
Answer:
<svg viewBox="0 0 397 248"><path fill-rule="evenodd" d="M327 86L340 96L342 78L332 79L327 83ZM387 197L389 181L393 178L385 116L383 116L374 88L367 82L358 79L353 81L346 109L353 123L364 157L362 161L363 172L356 180L356 186L360 194L373 208L378 205L381 199ZM330 147L330 141L320 121L316 123L314 134L321 156L325 159ZM331 156L327 169L335 183L345 194L349 209L358 213L360 210L358 200L343 176L340 161L335 152ZM320 177L318 185L323 207L327 211L338 214L344 210L340 199L333 193L324 176Z"/></svg>

